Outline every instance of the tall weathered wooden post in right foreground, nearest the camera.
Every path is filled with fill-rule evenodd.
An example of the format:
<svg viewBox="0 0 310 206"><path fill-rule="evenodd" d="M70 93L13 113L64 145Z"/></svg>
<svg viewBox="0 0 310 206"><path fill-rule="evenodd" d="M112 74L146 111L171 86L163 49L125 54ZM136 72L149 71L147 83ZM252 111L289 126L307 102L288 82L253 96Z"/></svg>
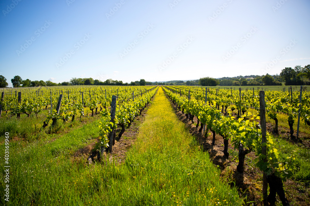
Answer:
<svg viewBox="0 0 310 206"><path fill-rule="evenodd" d="M267 143L266 138L266 109L265 109L265 92L259 91L259 116L260 116L260 125L262 128L262 145L263 143ZM262 146L262 154L266 156L263 159L264 162L267 162L267 146ZM268 182L267 182L267 175L265 172L263 173L263 205L268 205L267 202L267 189L268 189Z"/></svg>

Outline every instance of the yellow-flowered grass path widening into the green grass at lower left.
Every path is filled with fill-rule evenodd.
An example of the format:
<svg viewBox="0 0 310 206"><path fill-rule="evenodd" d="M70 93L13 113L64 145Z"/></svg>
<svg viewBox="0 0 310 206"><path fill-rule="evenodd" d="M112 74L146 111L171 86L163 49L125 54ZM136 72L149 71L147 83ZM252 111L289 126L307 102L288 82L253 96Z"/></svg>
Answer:
<svg viewBox="0 0 310 206"><path fill-rule="evenodd" d="M3 200L2 170L0 204L242 204L178 120L161 87L122 165L88 166L85 158L72 157L85 139L96 137L97 128L94 122L46 145L10 145L10 202ZM4 145L0 146L3 157ZM4 168L3 161L0 167Z"/></svg>

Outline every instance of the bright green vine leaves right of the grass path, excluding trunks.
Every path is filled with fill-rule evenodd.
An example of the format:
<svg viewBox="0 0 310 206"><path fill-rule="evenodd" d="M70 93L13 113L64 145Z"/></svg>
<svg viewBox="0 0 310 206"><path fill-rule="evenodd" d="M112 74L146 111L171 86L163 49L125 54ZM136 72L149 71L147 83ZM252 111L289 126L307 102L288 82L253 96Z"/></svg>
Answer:
<svg viewBox="0 0 310 206"><path fill-rule="evenodd" d="M219 90L216 92L214 89L209 89L207 92L207 102L204 103L204 90L196 90L196 93L191 93L192 97L188 100L186 98L188 93L184 90L182 90L182 95L179 96L179 94L172 92L173 89L179 91L177 86L167 88L169 88L169 90L164 87L165 92L172 98L172 100L181 106L181 108L198 116L201 123L206 124L207 129L214 130L226 140L231 139L231 143L235 149L238 149L239 145L242 144L249 151L256 151L258 158L255 159L255 162L260 170L266 172L266 174L274 173L278 177L281 177L282 180L286 180L292 176L293 171L295 170L295 163L293 161L295 154L290 154L290 157L288 158L291 158L290 161L280 158L273 137L268 132L267 142L264 144L261 143L262 131L258 124L260 118L257 116L257 112L254 114L248 111L249 107L252 106L259 109L258 100L251 95L251 91L243 92L244 96L241 95L242 102L240 103L239 93L237 93L238 91L234 91L234 95L231 97L225 90ZM309 94L307 93L307 95ZM304 97L303 99L309 99L307 97ZM277 117L278 111L282 111L288 115L288 121L294 121L294 118L298 114L297 102L294 102L294 104L289 103L290 99L286 98L286 95L280 92L267 93L265 94L265 98L266 107L268 108L267 115L269 117L275 118ZM223 115L220 110L217 110L218 105L228 106L228 102L232 103L232 105L230 105L231 110L234 110L235 108L240 109L239 105L243 104L244 106L241 107L241 110L245 110L246 114L238 118L238 120L235 120L235 117L231 114L231 110L228 109L226 115ZM302 118L306 117L303 116ZM266 156L262 154L262 146L267 147ZM265 158L266 161L264 161Z"/></svg>

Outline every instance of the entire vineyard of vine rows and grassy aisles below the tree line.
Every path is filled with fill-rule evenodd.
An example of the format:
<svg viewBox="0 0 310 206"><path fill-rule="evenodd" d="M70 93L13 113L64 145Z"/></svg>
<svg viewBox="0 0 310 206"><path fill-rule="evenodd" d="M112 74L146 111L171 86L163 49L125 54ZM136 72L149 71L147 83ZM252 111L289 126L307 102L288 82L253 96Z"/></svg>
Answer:
<svg viewBox="0 0 310 206"><path fill-rule="evenodd" d="M129 156L124 164L116 164L114 161L117 162L117 156L113 156L112 151L115 150L112 148L116 142L128 138L125 131L132 129L131 125L137 121L137 117L154 101L154 95L161 100L155 101L155 108L148 114L152 116L153 112L154 116L145 120L151 122L150 125L143 127L144 123L141 123L142 126L139 127L139 134L143 135L138 135L138 143L132 149L135 153L128 150ZM123 204L129 201L131 205L239 205L241 202L250 204L247 200L238 200L236 188L230 190L219 176L214 177L214 182L210 179L204 180L209 175L209 170L212 170L213 176L214 173L218 173L218 169L214 167L213 171L210 169L213 168L212 165L206 166L210 163L207 161L208 153L199 149L201 146L197 145L195 137L185 134L183 126L182 129L173 127L174 124L179 124L172 120L177 117L174 114L170 117L170 114L165 113L166 110L170 110L167 103L165 107L160 106L166 101L165 95L204 138L212 138L212 145L215 145L217 137L223 139L223 157L228 159L237 151L236 170L240 174L245 171L246 155L255 153L255 159L251 161L263 174L261 189L264 204L267 201L270 204L289 204L283 188L283 182L288 179L309 182L309 137L303 140L299 137L299 132L308 136L310 134L310 92L305 87L295 91L292 88L288 91L264 91L254 88L236 90L195 86L26 87L2 90L0 101L0 132L1 136L10 136L10 159L5 156L4 151L1 151L0 155L11 163L11 171L15 171L10 176L10 187L12 194L18 197L10 204L20 205L25 202L25 205L40 205L46 200L50 200L53 205L97 205L100 202L105 202L105 205L106 200L113 202L113 205L121 204L122 201ZM166 120L168 116L172 118L169 121ZM83 123L85 118L89 120ZM266 119L272 123L272 129L269 131L266 130ZM287 125L289 137L286 141L294 144L297 142L297 149L283 152L283 145L280 145L281 141L278 140L280 125ZM144 133L144 130L148 132ZM180 135L176 132L178 130L185 133L181 132ZM78 161L72 159L68 162L68 155L72 156L79 148L87 146L90 141L94 142L92 139L96 139L97 144L90 153L79 157ZM3 139L2 147L6 146L8 149L7 142ZM229 144L232 150L228 149ZM170 151L170 147L175 150ZM190 156L184 160L185 164L183 158L186 155ZM197 156L197 159L192 159L192 155ZM178 162L179 159L183 162ZM170 161L175 161L175 165ZM193 163L195 161L197 162ZM3 161L1 165L5 165ZM62 166L65 169L62 169ZM47 168L47 171L44 168ZM157 173L156 168L161 168L161 171ZM52 176L58 183L47 177L51 172L55 173ZM38 179L35 180L36 175ZM175 175L179 175L179 179ZM190 177L191 175L197 175L197 182ZM84 183L83 178L87 183ZM31 185L30 192L25 197L17 195L28 188L27 181L22 183L24 179ZM76 185L78 181L73 179L79 179L80 183ZM1 187L5 188L4 178L2 180ZM65 183L65 186L62 186L62 183ZM183 183L193 185L182 191L182 187L186 186L178 187L177 184ZM40 184L43 186L40 187ZM56 185L55 188L52 188L53 184ZM170 184L171 188L166 188L166 185ZM233 198L219 194L215 191L215 186L220 188L218 190L225 191L225 194L234 194ZM213 188L213 191L210 188ZM123 189L134 191L132 194L131 191L128 194L119 193ZM49 190L53 192L48 193ZM75 190L79 191L80 195L75 197ZM175 198L177 190L177 193L184 197ZM148 195L145 196L146 191ZM164 191L167 196L162 196ZM52 198L56 193L57 200ZM277 200L276 194L280 201ZM113 196L117 197L115 200L119 203L112 200Z"/></svg>

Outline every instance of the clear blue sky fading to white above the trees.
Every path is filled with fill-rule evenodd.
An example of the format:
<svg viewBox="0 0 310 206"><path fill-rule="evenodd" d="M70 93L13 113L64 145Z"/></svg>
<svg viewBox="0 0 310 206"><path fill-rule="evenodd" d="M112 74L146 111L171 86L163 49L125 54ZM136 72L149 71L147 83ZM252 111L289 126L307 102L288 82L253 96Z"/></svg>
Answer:
<svg viewBox="0 0 310 206"><path fill-rule="evenodd" d="M1 0L0 9L9 86L15 75L130 83L310 64L309 0Z"/></svg>

